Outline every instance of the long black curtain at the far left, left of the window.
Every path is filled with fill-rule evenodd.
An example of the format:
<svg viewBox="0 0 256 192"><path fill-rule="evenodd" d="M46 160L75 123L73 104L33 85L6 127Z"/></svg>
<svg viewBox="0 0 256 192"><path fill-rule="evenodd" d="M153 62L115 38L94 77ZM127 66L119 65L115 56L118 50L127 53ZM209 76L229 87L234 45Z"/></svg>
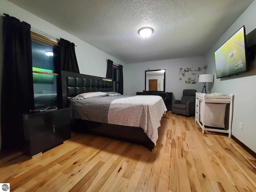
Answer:
<svg viewBox="0 0 256 192"><path fill-rule="evenodd" d="M24 143L22 113L34 109L30 24L3 18L2 148Z"/></svg>

